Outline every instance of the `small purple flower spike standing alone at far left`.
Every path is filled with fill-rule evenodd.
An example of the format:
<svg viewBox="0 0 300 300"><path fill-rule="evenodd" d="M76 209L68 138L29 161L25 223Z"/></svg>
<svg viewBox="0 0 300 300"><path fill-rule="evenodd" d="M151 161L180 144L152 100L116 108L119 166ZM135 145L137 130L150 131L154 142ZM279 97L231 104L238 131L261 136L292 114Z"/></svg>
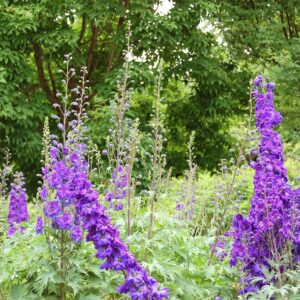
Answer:
<svg viewBox="0 0 300 300"><path fill-rule="evenodd" d="M20 226L22 222L29 220L27 203L26 203L26 189L24 188L23 173L14 174L14 182L11 184L10 202L8 211L9 229L8 236L12 236L17 230L23 231L25 228Z"/></svg>

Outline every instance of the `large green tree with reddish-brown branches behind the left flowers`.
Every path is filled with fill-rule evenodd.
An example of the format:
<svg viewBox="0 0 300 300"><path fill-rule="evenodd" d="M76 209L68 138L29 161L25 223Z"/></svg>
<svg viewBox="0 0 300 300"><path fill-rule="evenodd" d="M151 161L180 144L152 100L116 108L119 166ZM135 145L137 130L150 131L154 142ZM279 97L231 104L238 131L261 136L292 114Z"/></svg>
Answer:
<svg viewBox="0 0 300 300"><path fill-rule="evenodd" d="M198 27L207 16L207 1L174 1L166 16L156 13L158 3L155 0L1 2L0 138L3 143L8 136L13 156L25 172L31 171L32 165L38 168L42 122L45 115L53 112L52 105L60 101L57 92L62 88L59 69L63 69L64 55L72 53L75 69L87 66L90 111L103 109L107 101L102 100L114 90L122 72L128 20L132 24L133 54L144 60L132 63L132 87L141 89L153 84L149 66L153 67L158 57L162 58L165 85L168 78L194 82L191 103L187 103L194 112L191 118L182 117L181 104L176 110L176 122L182 120L179 126L185 135L201 127L205 130L198 135L199 139L208 132L218 133L211 136L214 141L220 137L220 125L238 107L232 101L241 90L238 88L236 92L238 85L232 84L232 80L241 78L237 63L222 54L215 35ZM70 89L76 86L77 79L70 81ZM176 101L170 104L170 113L173 104ZM209 124L215 124L217 129L211 131ZM169 126L173 125L170 118ZM171 141L176 142L176 135L176 132L170 134ZM223 143L219 144L221 149ZM215 143L207 144L207 139L199 140L198 153L209 145L215 147ZM212 162L219 156L220 152Z"/></svg>

